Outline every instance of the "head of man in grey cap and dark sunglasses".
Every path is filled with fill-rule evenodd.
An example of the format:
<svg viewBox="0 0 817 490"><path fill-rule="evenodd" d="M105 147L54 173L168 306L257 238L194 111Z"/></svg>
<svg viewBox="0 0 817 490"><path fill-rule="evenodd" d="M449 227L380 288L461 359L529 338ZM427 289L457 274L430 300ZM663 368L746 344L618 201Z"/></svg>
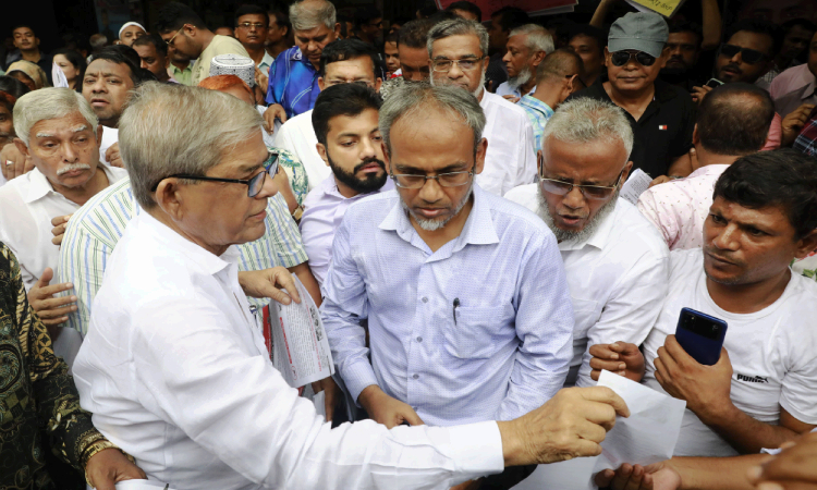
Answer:
<svg viewBox="0 0 817 490"><path fill-rule="evenodd" d="M631 12L610 27L605 64L610 85L619 93L649 89L667 64L667 22L656 13Z"/></svg>

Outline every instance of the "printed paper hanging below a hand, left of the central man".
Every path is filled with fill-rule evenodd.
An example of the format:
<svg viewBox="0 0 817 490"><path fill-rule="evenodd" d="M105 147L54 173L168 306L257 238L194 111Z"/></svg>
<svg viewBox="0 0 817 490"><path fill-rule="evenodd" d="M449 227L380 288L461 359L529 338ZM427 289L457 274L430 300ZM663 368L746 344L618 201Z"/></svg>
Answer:
<svg viewBox="0 0 817 490"><path fill-rule="evenodd" d="M301 303L265 306L264 334L276 369L290 387L301 388L333 375L334 363L318 307L294 279Z"/></svg>

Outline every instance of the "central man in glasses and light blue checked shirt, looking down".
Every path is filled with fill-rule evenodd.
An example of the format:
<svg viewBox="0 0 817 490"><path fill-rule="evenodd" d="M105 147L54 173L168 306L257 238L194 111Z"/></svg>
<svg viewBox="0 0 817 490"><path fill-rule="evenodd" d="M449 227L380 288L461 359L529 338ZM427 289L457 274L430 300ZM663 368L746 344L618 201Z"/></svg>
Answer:
<svg viewBox="0 0 817 490"><path fill-rule="evenodd" d="M485 124L465 90L397 88L380 109L397 192L353 204L336 232L324 322L352 399L387 427L513 418L568 372L573 311L556 240L475 183Z"/></svg>

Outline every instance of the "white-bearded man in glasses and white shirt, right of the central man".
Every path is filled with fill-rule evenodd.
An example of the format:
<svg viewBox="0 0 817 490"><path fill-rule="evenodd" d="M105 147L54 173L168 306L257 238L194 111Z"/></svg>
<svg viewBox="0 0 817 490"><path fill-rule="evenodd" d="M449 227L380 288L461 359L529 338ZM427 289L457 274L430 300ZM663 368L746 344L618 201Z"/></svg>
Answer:
<svg viewBox="0 0 817 490"><path fill-rule="evenodd" d="M619 198L632 148L622 109L589 98L564 102L545 126L539 182L505 195L536 212L559 242L575 317L565 387L595 384L592 345L623 339L639 345L667 295L669 249L635 206ZM516 489L584 489L577 465L585 464L539 466Z"/></svg>

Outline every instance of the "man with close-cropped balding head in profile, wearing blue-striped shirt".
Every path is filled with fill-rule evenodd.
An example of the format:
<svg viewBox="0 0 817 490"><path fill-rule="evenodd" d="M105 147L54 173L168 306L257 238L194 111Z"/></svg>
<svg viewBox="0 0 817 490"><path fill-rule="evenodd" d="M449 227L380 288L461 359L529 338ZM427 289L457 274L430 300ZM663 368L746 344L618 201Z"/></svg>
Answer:
<svg viewBox="0 0 817 490"><path fill-rule="evenodd" d="M536 90L523 96L519 105L534 126L534 151L541 149L545 124L556 108L571 94L585 87L582 82L584 63L575 52L557 49L536 69Z"/></svg>

